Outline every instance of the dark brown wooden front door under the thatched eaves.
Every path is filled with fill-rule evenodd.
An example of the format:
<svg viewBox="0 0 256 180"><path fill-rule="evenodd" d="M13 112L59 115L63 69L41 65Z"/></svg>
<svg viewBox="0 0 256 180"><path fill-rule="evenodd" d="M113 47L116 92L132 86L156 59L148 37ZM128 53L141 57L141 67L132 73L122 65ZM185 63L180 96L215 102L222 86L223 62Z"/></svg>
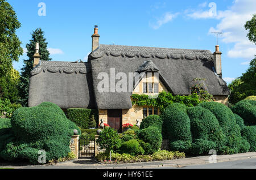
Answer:
<svg viewBox="0 0 256 180"><path fill-rule="evenodd" d="M108 125L122 131L122 109L108 109Z"/></svg>

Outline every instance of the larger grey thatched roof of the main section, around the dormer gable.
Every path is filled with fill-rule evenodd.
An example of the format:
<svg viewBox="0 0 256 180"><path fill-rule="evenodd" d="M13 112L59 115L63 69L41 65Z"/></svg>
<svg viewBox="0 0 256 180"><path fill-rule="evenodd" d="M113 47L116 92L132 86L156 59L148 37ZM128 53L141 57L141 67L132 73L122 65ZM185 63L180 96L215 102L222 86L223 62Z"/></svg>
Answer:
<svg viewBox="0 0 256 180"><path fill-rule="evenodd" d="M127 77L129 72L159 71L175 95L191 94L195 78L204 78L204 86L212 95L229 94L225 81L214 72L213 55L209 50L100 45L89 55L89 62L99 109L131 108L130 92L97 91L97 84L101 82L98 74L107 72L110 76L110 68L115 68L115 74L125 72Z"/></svg>

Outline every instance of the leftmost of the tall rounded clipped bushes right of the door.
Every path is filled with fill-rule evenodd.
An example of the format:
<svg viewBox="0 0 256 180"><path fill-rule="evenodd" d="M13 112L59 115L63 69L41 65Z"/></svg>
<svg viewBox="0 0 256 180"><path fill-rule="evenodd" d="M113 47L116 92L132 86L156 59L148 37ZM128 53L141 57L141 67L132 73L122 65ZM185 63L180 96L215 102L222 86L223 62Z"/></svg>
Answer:
<svg viewBox="0 0 256 180"><path fill-rule="evenodd" d="M185 105L174 103L164 109L160 115L160 118L163 119L164 137L169 139L170 142L192 140L190 119L186 110Z"/></svg>

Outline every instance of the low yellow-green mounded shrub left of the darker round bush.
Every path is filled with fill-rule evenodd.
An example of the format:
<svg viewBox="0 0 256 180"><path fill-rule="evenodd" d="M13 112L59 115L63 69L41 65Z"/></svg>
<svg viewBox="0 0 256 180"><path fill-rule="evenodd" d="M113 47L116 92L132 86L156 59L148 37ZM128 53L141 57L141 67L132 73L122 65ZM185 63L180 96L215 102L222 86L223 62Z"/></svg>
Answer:
<svg viewBox="0 0 256 180"><path fill-rule="evenodd" d="M139 142L135 139L131 139L121 145L119 152L127 153L129 155L143 155L144 149L139 145Z"/></svg>

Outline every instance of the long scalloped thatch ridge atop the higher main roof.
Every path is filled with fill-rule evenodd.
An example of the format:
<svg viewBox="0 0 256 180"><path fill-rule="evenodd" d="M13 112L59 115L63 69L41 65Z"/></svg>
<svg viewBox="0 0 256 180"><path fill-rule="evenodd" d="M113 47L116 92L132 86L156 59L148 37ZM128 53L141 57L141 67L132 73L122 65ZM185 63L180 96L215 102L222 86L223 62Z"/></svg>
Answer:
<svg viewBox="0 0 256 180"><path fill-rule="evenodd" d="M96 50L90 54L93 58L101 58L104 55L112 55L113 57L135 56L142 58L172 58L172 59L188 59L188 60L206 60L213 61L213 55L210 50L200 49L174 49L174 48L153 48L144 46L120 46L101 44Z"/></svg>

